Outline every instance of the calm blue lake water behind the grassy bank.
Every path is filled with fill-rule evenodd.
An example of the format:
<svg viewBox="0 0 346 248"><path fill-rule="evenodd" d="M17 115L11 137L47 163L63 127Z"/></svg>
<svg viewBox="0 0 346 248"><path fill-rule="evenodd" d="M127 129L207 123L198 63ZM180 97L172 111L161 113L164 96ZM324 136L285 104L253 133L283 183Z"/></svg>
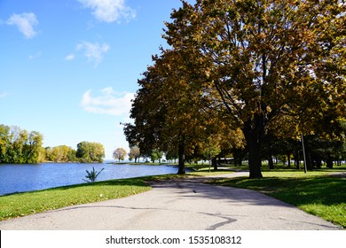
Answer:
<svg viewBox="0 0 346 248"><path fill-rule="evenodd" d="M112 164L38 164L0 165L0 195L13 192L43 190L70 184L83 183L86 172L95 167L96 171L105 168L97 181L130 178L154 174L176 174L177 167L132 166Z"/></svg>

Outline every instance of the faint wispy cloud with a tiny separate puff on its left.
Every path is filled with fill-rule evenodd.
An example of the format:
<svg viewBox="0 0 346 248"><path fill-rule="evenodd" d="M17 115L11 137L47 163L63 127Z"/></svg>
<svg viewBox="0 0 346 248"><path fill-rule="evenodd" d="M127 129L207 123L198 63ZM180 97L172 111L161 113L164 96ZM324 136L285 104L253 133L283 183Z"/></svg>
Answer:
<svg viewBox="0 0 346 248"><path fill-rule="evenodd" d="M89 61L94 62L95 66L103 60L106 52L110 49L107 43L102 45L98 43L79 43L76 50L83 50L84 56L88 58ZM68 56L67 56L68 57Z"/></svg>

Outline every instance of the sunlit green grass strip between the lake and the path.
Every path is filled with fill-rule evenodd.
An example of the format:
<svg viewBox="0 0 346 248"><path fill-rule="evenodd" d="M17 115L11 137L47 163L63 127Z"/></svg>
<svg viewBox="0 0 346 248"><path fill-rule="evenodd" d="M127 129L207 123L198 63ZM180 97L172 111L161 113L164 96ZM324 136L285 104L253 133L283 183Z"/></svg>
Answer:
<svg viewBox="0 0 346 248"><path fill-rule="evenodd" d="M0 197L0 221L68 205L124 198L151 188L142 178L83 183Z"/></svg>

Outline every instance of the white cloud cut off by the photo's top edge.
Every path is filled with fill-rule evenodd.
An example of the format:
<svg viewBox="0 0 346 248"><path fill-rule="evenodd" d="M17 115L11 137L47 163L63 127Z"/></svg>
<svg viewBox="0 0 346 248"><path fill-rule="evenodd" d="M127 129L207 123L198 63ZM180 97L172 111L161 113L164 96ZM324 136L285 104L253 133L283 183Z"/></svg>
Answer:
<svg viewBox="0 0 346 248"><path fill-rule="evenodd" d="M136 12L125 4L125 0L78 0L84 7L90 8L96 19L105 22L133 19Z"/></svg>

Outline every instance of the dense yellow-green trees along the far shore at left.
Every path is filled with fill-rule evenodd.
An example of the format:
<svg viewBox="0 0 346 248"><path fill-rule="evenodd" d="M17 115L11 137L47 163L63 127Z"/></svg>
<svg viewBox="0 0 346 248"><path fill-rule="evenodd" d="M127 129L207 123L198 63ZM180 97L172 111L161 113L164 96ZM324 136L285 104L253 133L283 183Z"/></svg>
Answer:
<svg viewBox="0 0 346 248"><path fill-rule="evenodd" d="M101 163L104 158L105 148L101 143L81 142L77 150L67 145L43 147L43 135L39 132L0 124L0 163Z"/></svg>

